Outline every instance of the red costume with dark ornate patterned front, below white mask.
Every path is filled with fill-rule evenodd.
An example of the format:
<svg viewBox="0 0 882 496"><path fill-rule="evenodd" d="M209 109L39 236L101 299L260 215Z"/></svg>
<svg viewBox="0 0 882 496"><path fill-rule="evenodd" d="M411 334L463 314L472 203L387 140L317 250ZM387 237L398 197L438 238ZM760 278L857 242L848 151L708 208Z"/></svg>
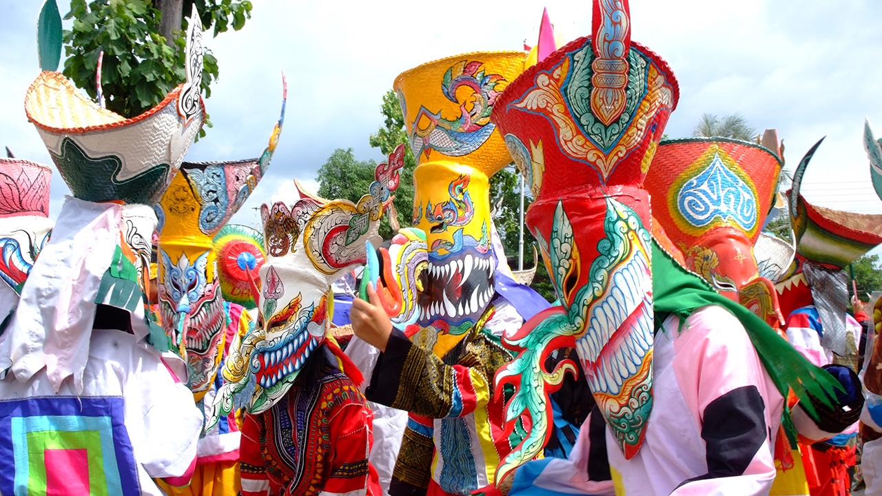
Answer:
<svg viewBox="0 0 882 496"><path fill-rule="evenodd" d="M314 387L292 387L270 410L245 417L243 494L382 494L368 464L372 420L340 370Z"/></svg>

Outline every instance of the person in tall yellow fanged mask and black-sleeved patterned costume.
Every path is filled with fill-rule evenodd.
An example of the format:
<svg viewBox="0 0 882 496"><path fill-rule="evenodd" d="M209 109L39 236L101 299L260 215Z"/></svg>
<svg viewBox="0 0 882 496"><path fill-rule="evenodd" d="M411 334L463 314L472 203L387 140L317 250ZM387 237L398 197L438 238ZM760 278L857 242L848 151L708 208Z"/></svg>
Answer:
<svg viewBox="0 0 882 496"><path fill-rule="evenodd" d="M382 286L400 291L404 302L397 312L384 306L402 317L392 319L397 328L365 390L370 401L410 414L393 496L468 494L495 480L497 463L512 449L502 431L503 402L493 395L494 374L512 358L498 336L548 304L514 282L505 254L494 250L489 177L511 156L490 111L524 59L520 52L470 53L395 79L418 162L414 231L422 231L416 236L424 236L428 256L424 268L391 263L407 274L384 276ZM407 253L392 243L390 252ZM421 289L402 282L421 273Z"/></svg>

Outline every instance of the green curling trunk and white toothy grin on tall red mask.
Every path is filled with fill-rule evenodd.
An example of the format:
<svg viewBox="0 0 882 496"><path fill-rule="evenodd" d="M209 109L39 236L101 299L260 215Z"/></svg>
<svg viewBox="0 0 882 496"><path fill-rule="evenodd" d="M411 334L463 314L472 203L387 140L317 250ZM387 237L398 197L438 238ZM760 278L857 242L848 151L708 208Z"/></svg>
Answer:
<svg viewBox="0 0 882 496"><path fill-rule="evenodd" d="M653 309L650 236L639 216L616 199L606 199L605 237L588 268L588 283L574 287L584 260L573 237L562 201L557 203L548 244L552 284L563 306L537 314L506 342L519 357L497 372L497 387L515 389L506 403L506 428L520 418L532 425L525 440L500 464L497 478L542 451L548 439L551 410L545 405L563 374L566 361L548 372L553 349L575 346L582 369L607 424L626 457L637 453L652 410ZM572 302L572 303L570 303Z"/></svg>

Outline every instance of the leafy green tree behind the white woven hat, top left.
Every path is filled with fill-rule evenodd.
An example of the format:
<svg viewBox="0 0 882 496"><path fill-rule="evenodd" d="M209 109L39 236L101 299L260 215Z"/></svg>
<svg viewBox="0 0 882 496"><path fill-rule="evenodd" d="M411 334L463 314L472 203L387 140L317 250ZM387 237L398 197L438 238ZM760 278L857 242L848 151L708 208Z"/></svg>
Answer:
<svg viewBox="0 0 882 496"><path fill-rule="evenodd" d="M229 27L242 29L251 15L249 0L71 0L64 16L73 19L71 30L64 31L64 75L97 101L95 72L103 50L101 88L107 108L125 117L152 109L186 79L183 33L192 9L214 36ZM206 97L219 74L217 59L206 50Z"/></svg>

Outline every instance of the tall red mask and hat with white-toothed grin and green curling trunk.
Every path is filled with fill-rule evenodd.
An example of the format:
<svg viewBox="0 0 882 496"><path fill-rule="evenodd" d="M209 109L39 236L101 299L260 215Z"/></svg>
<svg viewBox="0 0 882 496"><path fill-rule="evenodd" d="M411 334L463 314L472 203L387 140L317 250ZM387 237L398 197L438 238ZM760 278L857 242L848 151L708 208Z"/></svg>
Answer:
<svg viewBox="0 0 882 496"><path fill-rule="evenodd" d="M527 227L563 305L508 336L524 351L498 372L497 387L516 389L507 421L527 417L533 427L497 480L543 446L550 408L539 391L563 376L543 363L567 340L626 458L638 452L652 409L651 219L642 185L676 106L676 79L631 41L626 3L594 2L593 31L527 69L492 115L534 193Z"/></svg>

